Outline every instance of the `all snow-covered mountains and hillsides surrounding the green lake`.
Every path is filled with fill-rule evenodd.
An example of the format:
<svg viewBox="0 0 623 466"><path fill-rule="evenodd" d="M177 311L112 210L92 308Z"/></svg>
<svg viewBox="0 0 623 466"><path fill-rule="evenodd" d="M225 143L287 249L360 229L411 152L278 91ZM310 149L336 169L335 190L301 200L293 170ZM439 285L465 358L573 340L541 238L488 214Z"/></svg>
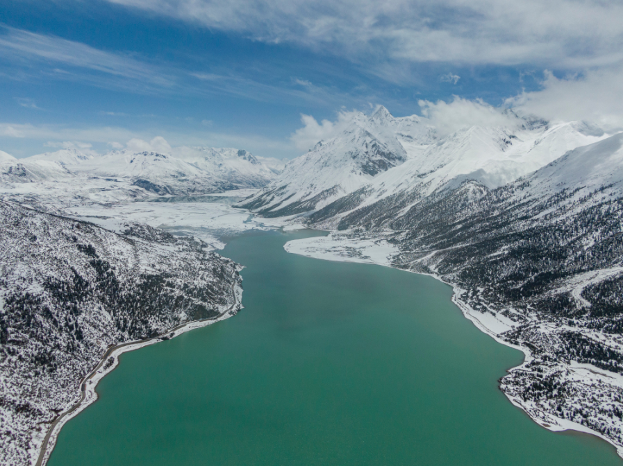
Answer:
<svg viewBox="0 0 623 466"><path fill-rule="evenodd" d="M237 266L201 244L145 225L110 232L63 209L255 188L236 207L329 230L329 247L390 243L390 265L451 284L465 316L526 354L500 381L514 404L549 429L590 431L623 451L623 132L510 110L499 121L447 132L380 106L352 112L285 164L187 146L104 155L72 148L26 159L0 152L0 306L10 311L0 315L0 372L20 381L36 372L45 393L54 383L67 387L47 402L20 392L28 401L19 404L6 395L17 388L1 379L0 406L14 433L3 449L18 463L31 460L19 456L40 441L29 432L75 399L72 380L92 368L101 345L235 302ZM205 267L208 297L203 282L184 285L194 261ZM163 280L171 286L150 288ZM145 293L181 305L160 313L140 304ZM140 315L117 312L128 303ZM25 363L15 359L20 353ZM72 363L74 356L86 362Z"/></svg>

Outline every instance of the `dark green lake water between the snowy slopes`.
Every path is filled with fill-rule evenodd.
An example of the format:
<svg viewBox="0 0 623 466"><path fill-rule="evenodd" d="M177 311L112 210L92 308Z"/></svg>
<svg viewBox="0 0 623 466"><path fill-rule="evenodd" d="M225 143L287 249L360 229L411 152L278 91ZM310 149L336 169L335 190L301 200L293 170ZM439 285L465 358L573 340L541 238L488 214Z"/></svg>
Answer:
<svg viewBox="0 0 623 466"><path fill-rule="evenodd" d="M49 465L622 465L508 402L497 379L522 354L448 286L283 250L309 235L231 241L246 309L124 354Z"/></svg>

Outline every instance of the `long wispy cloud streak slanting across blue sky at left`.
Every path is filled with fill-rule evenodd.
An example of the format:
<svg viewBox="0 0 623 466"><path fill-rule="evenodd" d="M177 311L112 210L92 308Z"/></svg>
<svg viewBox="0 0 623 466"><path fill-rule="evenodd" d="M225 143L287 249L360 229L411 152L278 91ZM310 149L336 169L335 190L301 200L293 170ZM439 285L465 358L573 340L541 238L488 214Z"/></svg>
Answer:
<svg viewBox="0 0 623 466"><path fill-rule="evenodd" d="M287 99L307 105L331 105L335 101L354 103L354 98L347 93L315 86L305 80L272 84L235 74L235 71L187 71L166 63L151 64L138 55L102 51L81 42L1 25L0 63L0 67L19 69L14 76L6 73L7 78L32 80L44 76L138 94L228 94L255 101ZM18 103L35 108L35 103L26 98L19 99ZM122 116L118 112L102 114Z"/></svg>

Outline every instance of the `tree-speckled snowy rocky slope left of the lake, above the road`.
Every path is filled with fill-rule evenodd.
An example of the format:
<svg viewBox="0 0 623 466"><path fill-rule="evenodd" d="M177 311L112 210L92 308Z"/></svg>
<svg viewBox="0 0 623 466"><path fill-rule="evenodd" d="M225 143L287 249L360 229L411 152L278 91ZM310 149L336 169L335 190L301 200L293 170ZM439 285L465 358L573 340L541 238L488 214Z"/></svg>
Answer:
<svg viewBox="0 0 623 466"><path fill-rule="evenodd" d="M144 225L0 202L0 463L29 465L110 345L240 309L238 266Z"/></svg>

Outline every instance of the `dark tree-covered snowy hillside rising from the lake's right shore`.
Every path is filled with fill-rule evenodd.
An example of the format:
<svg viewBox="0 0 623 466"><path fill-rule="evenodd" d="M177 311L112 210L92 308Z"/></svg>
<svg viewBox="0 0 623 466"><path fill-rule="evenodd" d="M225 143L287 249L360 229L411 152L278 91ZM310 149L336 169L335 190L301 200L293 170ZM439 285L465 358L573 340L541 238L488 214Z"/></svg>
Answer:
<svg viewBox="0 0 623 466"><path fill-rule="evenodd" d="M544 132L549 147L568 144L560 134L576 138L577 126L559 128ZM623 454L623 133L495 189L466 179L424 195L359 198L306 217L334 229L306 248L363 256L389 241L393 266L452 284L468 318L526 352L501 379L514 404L549 429L597 433Z"/></svg>

